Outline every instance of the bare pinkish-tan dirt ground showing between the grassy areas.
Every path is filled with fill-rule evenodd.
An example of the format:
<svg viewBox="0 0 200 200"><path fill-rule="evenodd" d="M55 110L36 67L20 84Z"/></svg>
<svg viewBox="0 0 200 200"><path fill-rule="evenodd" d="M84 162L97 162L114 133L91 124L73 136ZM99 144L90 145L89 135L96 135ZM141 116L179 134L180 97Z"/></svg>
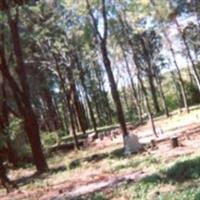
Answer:
<svg viewBox="0 0 200 200"><path fill-rule="evenodd" d="M165 117L156 119L156 127L159 133L159 138L152 135L150 123L139 126L132 130L132 134L137 134L140 142L149 143L152 139L157 142L155 148L146 148L140 152L144 156L158 155L165 160L166 165L173 159L187 154L193 154L200 151L200 117L199 110L192 111L191 114L181 113L173 114L169 119ZM172 148L170 138L177 136L179 147ZM113 149L122 146L122 137L118 135L116 138L105 137L103 140L96 140L90 145L90 151L100 153L101 150L112 146ZM67 155L66 155L67 156ZM134 155L132 155L134 156ZM96 168L85 169L81 174L71 174L61 182L50 181L44 187L23 188L6 194L1 190L1 200L47 200L47 199L70 199L79 195L92 193L113 187L120 182L131 180L138 181L140 178L153 173L148 167L131 172L115 173L106 171L101 165L104 161L100 161ZM92 165L92 163L91 163ZM98 167L99 166L99 167ZM92 170L92 171L91 171ZM13 180L18 180L20 177L27 177L34 180L33 169L18 169L10 173ZM44 176L44 179L47 178ZM48 177L49 178L49 177ZM51 177L51 180L54 177ZM25 181L25 180L24 180ZM22 181L22 182L24 182ZM26 182L24 183L26 185Z"/></svg>

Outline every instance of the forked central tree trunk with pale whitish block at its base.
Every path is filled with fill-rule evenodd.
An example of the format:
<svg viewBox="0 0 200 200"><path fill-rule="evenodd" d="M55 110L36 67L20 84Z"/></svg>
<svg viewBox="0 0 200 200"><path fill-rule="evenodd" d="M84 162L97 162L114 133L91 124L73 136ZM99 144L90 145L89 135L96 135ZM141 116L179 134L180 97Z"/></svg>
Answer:
<svg viewBox="0 0 200 200"><path fill-rule="evenodd" d="M139 148L141 148L141 145L138 142L137 136L135 135L130 136L127 131L124 111L122 109L122 104L120 101L117 84L114 79L113 71L111 68L111 62L108 56L108 49L107 49L108 21L107 21L106 1L105 0L101 1L101 7L102 7L101 14L102 14L102 19L103 19L103 24L104 24L103 34L101 34L98 29L97 19L95 18L94 13L92 12L92 8L90 6L89 0L86 0L86 4L87 4L87 9L89 11L91 20L93 22L93 27L95 30L96 37L99 40L101 55L103 58L103 64L104 64L106 74L110 83L111 94L114 100L114 104L116 106L117 118L118 118L121 131L122 131L125 153L136 152L138 151Z"/></svg>

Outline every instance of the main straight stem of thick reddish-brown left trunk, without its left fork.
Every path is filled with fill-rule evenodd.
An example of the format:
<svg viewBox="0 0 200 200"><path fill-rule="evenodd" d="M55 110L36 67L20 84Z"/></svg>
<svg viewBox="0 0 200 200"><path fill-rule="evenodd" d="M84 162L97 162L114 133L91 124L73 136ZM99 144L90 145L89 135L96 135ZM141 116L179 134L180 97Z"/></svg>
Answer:
<svg viewBox="0 0 200 200"><path fill-rule="evenodd" d="M30 101L30 91L29 91L29 86L28 86L28 81L27 81L26 67L24 65L21 43L20 43L20 36L19 36L19 29L18 29L18 14L13 19L11 17L10 10L8 10L7 17L8 17L8 24L11 31L13 50L15 53L16 63L17 63L16 72L19 77L21 88L23 91L21 93L21 100L23 102L23 111L21 109L22 111L21 114L24 119L24 127L27 133L27 136L29 138L36 168L38 171L42 172L42 171L46 171L48 166L47 166L45 156L42 151L37 118L33 112L33 108Z"/></svg>

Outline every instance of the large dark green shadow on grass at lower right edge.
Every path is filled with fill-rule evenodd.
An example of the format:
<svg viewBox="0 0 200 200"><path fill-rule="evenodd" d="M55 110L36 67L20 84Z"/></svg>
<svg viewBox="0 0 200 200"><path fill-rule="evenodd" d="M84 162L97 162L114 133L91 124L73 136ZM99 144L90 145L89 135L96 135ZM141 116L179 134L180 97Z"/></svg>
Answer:
<svg viewBox="0 0 200 200"><path fill-rule="evenodd" d="M158 174L147 176L141 181L143 183L169 183L184 182L190 179L198 178L200 178L200 157L179 161L170 168L162 170Z"/></svg>

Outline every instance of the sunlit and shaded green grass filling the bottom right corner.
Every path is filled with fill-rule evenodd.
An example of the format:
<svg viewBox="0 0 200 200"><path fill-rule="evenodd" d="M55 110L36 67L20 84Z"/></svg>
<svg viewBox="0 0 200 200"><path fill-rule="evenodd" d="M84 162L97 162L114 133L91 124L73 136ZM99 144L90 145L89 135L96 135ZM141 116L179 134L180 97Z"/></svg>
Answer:
<svg viewBox="0 0 200 200"><path fill-rule="evenodd" d="M120 197L119 199L130 200L199 200L199 184L200 157L186 156L184 159L178 158L170 167L163 168L137 183L127 183L112 192L101 192L101 195L104 195L105 199Z"/></svg>

